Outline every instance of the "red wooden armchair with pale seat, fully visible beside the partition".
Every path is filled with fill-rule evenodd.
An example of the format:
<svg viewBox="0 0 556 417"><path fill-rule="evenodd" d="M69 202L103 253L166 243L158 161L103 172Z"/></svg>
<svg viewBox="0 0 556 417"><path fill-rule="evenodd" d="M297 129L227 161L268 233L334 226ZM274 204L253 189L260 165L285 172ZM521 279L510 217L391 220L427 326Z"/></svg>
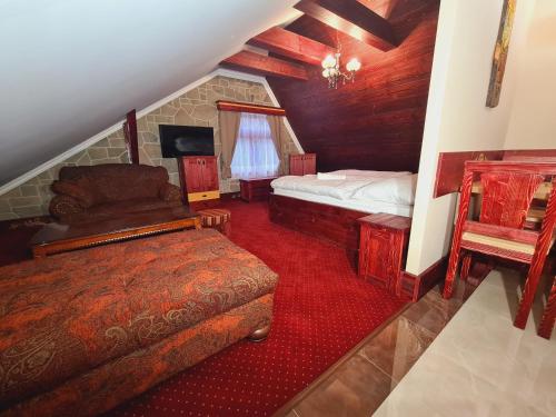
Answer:
<svg viewBox="0 0 556 417"><path fill-rule="evenodd" d="M468 219L474 180L480 179L483 201L479 221ZM546 187L552 182L552 188ZM546 214L540 230L524 230L535 192L548 190ZM556 224L556 163L523 161L467 161L461 199L446 272L444 298L450 298L463 250L481 252L528 264L522 301L514 320L525 328L546 256L554 242ZM464 266L468 268L467 265Z"/></svg>

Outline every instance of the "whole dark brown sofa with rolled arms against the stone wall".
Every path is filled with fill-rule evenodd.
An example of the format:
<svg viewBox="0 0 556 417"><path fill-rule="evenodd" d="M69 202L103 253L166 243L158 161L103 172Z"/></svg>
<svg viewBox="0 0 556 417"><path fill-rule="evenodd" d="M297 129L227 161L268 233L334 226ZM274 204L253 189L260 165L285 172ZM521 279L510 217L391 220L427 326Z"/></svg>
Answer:
<svg viewBox="0 0 556 417"><path fill-rule="evenodd" d="M76 224L181 205L179 187L163 167L105 163L63 167L52 183L50 214Z"/></svg>

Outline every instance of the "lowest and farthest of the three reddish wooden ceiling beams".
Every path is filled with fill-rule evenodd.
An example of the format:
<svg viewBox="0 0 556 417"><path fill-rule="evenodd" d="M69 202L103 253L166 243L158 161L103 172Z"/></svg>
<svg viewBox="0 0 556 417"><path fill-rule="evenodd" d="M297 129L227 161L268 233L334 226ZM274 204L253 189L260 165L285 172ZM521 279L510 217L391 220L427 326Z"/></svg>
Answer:
<svg viewBox="0 0 556 417"><path fill-rule="evenodd" d="M262 76L290 78L302 81L309 79L307 69L304 66L251 51L240 51L226 58L220 64Z"/></svg>

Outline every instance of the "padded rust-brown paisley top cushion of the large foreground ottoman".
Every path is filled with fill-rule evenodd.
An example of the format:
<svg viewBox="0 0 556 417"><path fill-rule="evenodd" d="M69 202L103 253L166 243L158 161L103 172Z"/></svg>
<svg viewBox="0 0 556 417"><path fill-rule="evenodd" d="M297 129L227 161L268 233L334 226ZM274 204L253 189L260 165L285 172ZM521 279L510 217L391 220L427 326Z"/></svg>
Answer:
<svg viewBox="0 0 556 417"><path fill-rule="evenodd" d="M0 404L271 294L277 275L215 230L0 268Z"/></svg>

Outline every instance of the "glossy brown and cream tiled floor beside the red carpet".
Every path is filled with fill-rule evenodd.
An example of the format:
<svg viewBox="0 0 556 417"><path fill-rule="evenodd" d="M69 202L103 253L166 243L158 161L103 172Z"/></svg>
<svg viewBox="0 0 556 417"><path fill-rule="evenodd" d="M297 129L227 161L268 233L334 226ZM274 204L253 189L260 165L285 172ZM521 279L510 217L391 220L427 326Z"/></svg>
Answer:
<svg viewBox="0 0 556 417"><path fill-rule="evenodd" d="M518 286L505 270L450 300L435 288L279 415L556 416L556 340L536 336L538 306L513 326Z"/></svg>

